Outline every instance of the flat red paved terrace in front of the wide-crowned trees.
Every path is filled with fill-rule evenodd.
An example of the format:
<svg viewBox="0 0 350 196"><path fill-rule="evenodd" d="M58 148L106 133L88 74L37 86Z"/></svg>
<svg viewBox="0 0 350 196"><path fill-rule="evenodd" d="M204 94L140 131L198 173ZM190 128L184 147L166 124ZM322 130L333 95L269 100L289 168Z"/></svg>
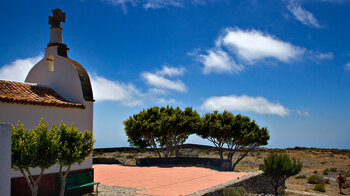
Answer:
<svg viewBox="0 0 350 196"><path fill-rule="evenodd" d="M136 167L93 165L95 181L109 186L147 189L138 193L164 196L187 195L247 175L201 167Z"/></svg>

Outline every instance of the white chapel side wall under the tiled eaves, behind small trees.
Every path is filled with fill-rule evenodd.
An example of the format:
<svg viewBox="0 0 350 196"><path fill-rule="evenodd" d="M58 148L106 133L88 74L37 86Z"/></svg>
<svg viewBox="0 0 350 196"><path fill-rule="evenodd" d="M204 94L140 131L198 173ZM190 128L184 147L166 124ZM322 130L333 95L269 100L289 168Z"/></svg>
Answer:
<svg viewBox="0 0 350 196"><path fill-rule="evenodd" d="M86 108L60 108L52 106L37 106L37 105L23 105L23 104L11 104L0 102L0 123L10 123L17 125L18 121L24 124L27 129L33 129L38 125L39 121L43 117L45 122L50 126L55 123L59 126L63 121L65 124L77 127L80 131L89 130L93 128L93 102L83 101ZM90 156L80 166L75 165L72 170L92 168L92 157ZM39 174L38 169L33 169L32 172ZM58 166L54 166L46 170L45 173L58 172ZM22 177L22 174L18 171L12 170L12 177Z"/></svg>

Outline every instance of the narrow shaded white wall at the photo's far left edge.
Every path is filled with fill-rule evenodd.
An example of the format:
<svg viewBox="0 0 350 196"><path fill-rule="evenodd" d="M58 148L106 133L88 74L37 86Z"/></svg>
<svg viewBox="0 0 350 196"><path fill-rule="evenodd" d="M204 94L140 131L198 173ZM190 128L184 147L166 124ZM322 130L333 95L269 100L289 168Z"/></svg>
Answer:
<svg viewBox="0 0 350 196"><path fill-rule="evenodd" d="M0 123L0 195L11 193L11 125Z"/></svg>

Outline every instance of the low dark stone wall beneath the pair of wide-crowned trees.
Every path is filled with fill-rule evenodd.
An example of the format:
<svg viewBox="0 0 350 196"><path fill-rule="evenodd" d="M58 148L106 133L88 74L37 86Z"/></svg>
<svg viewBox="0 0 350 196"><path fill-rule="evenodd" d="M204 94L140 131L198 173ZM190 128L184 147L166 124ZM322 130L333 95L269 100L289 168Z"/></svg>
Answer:
<svg viewBox="0 0 350 196"><path fill-rule="evenodd" d="M221 171L231 171L232 162L213 158L200 157L171 157L168 159L159 158L141 158L136 159L137 166L159 166L159 165L185 165L185 166L200 166Z"/></svg>

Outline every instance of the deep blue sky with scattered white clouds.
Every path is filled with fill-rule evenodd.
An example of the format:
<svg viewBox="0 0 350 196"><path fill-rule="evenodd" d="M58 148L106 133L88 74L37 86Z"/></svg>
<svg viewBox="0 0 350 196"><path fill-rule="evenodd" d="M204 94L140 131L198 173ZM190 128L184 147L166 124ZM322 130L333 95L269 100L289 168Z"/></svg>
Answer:
<svg viewBox="0 0 350 196"><path fill-rule="evenodd" d="M350 148L348 0L1 2L0 79L43 57L55 8L92 80L95 147L128 146L123 120L172 105L248 115L272 148Z"/></svg>

